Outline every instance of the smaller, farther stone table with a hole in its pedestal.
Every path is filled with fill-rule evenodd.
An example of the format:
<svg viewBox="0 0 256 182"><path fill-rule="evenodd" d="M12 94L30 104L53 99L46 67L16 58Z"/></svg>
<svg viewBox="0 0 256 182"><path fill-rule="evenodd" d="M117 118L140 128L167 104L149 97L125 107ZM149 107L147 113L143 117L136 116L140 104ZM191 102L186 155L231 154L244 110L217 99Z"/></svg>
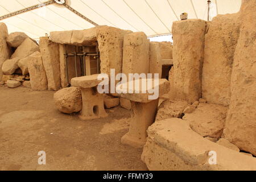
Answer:
<svg viewBox="0 0 256 182"><path fill-rule="evenodd" d="M82 120L108 117L104 109L104 95L98 93L98 74L75 77L71 79L71 85L79 87L82 94L82 110L79 118Z"/></svg>

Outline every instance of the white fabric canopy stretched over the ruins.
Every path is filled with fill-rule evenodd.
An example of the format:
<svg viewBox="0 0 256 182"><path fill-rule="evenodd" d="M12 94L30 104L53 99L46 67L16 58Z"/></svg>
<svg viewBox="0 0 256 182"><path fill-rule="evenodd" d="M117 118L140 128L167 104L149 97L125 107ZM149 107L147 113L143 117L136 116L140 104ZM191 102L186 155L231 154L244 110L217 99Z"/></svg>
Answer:
<svg viewBox="0 0 256 182"><path fill-rule="evenodd" d="M0 16L13 13L46 0L1 0ZM181 13L189 19L207 20L207 0L69 0L68 5L97 24L147 36L170 34L172 22ZM211 15L237 13L241 0L213 0ZM34 39L51 31L82 30L94 25L62 5L48 5L3 19L9 33L22 31Z"/></svg>

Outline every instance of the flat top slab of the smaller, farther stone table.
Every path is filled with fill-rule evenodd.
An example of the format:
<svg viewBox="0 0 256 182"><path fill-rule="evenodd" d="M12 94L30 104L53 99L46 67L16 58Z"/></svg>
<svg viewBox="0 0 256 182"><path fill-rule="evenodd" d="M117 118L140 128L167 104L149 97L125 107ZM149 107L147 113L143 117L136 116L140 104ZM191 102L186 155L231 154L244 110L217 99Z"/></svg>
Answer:
<svg viewBox="0 0 256 182"><path fill-rule="evenodd" d="M102 80L98 80L98 74L75 77L71 79L71 85L79 88L92 88L100 84Z"/></svg>

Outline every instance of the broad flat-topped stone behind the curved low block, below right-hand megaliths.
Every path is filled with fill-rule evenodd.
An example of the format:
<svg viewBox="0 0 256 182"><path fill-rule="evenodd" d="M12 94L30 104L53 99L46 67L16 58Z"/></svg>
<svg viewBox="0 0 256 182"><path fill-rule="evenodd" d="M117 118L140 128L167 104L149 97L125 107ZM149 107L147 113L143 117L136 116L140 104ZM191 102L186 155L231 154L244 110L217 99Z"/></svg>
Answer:
<svg viewBox="0 0 256 182"><path fill-rule="evenodd" d="M183 119L202 137L220 138L225 125L227 107L216 104L199 104Z"/></svg>

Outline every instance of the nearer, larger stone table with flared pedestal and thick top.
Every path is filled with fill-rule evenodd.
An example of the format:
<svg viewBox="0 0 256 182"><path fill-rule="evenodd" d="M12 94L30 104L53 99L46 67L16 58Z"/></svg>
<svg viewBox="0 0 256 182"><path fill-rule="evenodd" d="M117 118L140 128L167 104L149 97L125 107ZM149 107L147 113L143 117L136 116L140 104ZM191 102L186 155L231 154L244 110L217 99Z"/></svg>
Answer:
<svg viewBox="0 0 256 182"><path fill-rule="evenodd" d="M123 135L121 139L122 144L128 144L130 146L140 148L146 143L147 128L155 121L155 115L158 110L159 97L166 94L170 90L170 82L166 79L158 79L158 84L154 84L154 79L140 79L139 80L139 93L135 93L135 86L129 88L131 81L123 83L117 88L117 92L121 92L122 88L127 85L128 93L119 93L118 96L131 101L132 116L130 122L129 132ZM148 93L147 88L142 88L142 83L152 83L152 89L159 87L159 96L154 100L150 100L148 96L153 94ZM131 93L133 92L133 93ZM146 93L143 93L146 92Z"/></svg>

